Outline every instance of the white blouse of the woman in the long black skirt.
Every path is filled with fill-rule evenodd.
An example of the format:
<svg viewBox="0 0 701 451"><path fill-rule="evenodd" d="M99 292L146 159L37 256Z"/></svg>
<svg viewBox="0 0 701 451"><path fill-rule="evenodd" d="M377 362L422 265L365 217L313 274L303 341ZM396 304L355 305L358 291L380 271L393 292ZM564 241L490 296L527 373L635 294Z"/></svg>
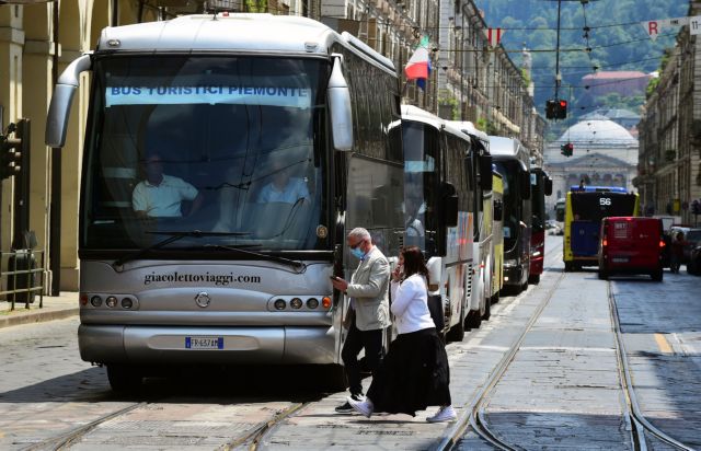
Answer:
<svg viewBox="0 0 701 451"><path fill-rule="evenodd" d="M399 334L409 334L435 327L428 312L428 292L424 276L414 274L404 281L392 280L392 305L394 324Z"/></svg>

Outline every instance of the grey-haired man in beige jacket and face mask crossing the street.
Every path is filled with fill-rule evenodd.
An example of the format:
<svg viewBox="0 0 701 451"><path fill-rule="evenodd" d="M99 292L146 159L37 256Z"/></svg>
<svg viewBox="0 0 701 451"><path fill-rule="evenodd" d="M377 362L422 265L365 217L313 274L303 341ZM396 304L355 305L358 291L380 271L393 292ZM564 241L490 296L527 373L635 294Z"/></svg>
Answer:
<svg viewBox="0 0 701 451"><path fill-rule="evenodd" d="M375 375L382 358L382 332L391 324L388 297L390 264L382 252L372 244L370 233L366 229L353 229L346 243L360 263L353 273L350 282L334 278L331 284L350 299L349 321L346 322L348 336L343 345L341 358L348 378L350 398L361 401L358 354L365 349L366 361ZM347 413L354 409L346 402L336 407L336 412Z"/></svg>

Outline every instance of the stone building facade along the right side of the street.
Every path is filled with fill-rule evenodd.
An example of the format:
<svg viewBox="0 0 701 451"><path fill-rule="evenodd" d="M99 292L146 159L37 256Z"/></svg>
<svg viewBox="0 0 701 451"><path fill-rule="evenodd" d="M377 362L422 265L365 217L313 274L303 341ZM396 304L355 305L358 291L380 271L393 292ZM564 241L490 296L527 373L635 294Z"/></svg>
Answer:
<svg viewBox="0 0 701 451"><path fill-rule="evenodd" d="M692 1L688 15L701 14ZM640 158L634 183L646 215L671 215L694 224L701 201L701 48L688 26L668 50L656 89L639 124Z"/></svg>

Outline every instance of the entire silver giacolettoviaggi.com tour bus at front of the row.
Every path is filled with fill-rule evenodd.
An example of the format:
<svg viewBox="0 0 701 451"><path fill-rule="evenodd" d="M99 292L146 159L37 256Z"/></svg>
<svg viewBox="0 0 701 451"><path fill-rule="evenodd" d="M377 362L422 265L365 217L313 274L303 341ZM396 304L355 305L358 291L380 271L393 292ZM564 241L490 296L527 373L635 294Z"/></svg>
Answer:
<svg viewBox="0 0 701 451"><path fill-rule="evenodd" d="M357 266L347 232L397 257L404 231L392 62L306 18L108 27L60 76L48 146L64 146L83 71L82 359L115 390L203 363L318 365L343 385L348 299L330 277ZM139 184L156 206L135 208Z"/></svg>

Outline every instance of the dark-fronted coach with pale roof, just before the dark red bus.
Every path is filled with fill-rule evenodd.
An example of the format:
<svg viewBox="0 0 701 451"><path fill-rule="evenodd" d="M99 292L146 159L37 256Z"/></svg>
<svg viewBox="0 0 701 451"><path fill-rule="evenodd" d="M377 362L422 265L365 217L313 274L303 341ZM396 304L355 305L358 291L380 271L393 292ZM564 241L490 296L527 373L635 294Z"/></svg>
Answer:
<svg viewBox="0 0 701 451"><path fill-rule="evenodd" d="M504 286L520 292L530 269L530 155L518 139L496 136L490 151L504 184Z"/></svg>

